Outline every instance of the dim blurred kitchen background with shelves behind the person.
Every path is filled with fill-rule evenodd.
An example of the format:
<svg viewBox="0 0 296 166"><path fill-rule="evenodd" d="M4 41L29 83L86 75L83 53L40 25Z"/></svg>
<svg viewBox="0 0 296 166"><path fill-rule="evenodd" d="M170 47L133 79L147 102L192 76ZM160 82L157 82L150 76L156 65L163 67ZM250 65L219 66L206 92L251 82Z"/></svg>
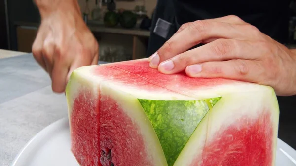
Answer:
<svg viewBox="0 0 296 166"><path fill-rule="evenodd" d="M136 24L106 26L105 13L114 9L136 14ZM88 27L99 41L100 60L115 62L146 56L150 19L157 0L78 0ZM291 2L289 43L296 47L296 5ZM129 13L126 20L130 20ZM114 15L109 13L108 25L114 24ZM133 20L134 18L132 18ZM0 49L31 52L37 34L40 16L33 0L0 0ZM127 26L129 28L127 28Z"/></svg>

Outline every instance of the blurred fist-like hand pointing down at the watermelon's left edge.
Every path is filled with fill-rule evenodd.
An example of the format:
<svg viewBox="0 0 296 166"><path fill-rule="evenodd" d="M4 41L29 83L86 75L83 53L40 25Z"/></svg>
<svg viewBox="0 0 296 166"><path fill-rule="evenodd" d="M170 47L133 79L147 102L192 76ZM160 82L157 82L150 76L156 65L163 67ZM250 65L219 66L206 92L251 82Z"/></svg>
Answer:
<svg viewBox="0 0 296 166"><path fill-rule="evenodd" d="M78 10L57 10L42 15L32 53L61 93L74 69L98 63L98 42Z"/></svg>

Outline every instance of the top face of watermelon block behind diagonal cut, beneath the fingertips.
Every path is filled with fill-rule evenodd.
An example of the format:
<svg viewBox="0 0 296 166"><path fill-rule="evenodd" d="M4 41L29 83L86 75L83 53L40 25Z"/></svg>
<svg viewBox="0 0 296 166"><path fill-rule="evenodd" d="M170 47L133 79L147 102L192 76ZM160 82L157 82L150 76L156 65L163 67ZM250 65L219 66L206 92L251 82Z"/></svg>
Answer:
<svg viewBox="0 0 296 166"><path fill-rule="evenodd" d="M249 91L249 86L251 86L250 88L252 89L261 88L251 83L244 82L242 84L240 81L223 78L190 78L186 76L185 72L174 75L162 74L158 72L157 69L151 69L147 59L104 64L104 66L133 73L143 77L143 79L152 84L195 98L222 96L225 93L231 93L233 91Z"/></svg>

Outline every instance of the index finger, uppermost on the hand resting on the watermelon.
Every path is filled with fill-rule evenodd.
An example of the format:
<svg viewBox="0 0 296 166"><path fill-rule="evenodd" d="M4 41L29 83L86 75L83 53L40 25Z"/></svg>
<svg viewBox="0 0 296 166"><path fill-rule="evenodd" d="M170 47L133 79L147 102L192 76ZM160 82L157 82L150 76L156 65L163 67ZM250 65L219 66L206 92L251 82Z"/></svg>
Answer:
<svg viewBox="0 0 296 166"><path fill-rule="evenodd" d="M183 53L204 40L213 38L241 39L246 36L241 25L222 22L195 21L182 32L171 37L150 60L150 67Z"/></svg>

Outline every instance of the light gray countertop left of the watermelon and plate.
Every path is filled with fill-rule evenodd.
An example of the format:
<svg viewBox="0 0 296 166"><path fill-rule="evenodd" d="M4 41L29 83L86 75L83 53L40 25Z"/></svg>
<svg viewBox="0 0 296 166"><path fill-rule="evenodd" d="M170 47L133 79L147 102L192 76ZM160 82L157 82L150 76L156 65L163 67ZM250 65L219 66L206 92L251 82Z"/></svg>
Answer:
<svg viewBox="0 0 296 166"><path fill-rule="evenodd" d="M32 54L0 59L0 166L9 166L39 131L68 116L64 94Z"/></svg>

